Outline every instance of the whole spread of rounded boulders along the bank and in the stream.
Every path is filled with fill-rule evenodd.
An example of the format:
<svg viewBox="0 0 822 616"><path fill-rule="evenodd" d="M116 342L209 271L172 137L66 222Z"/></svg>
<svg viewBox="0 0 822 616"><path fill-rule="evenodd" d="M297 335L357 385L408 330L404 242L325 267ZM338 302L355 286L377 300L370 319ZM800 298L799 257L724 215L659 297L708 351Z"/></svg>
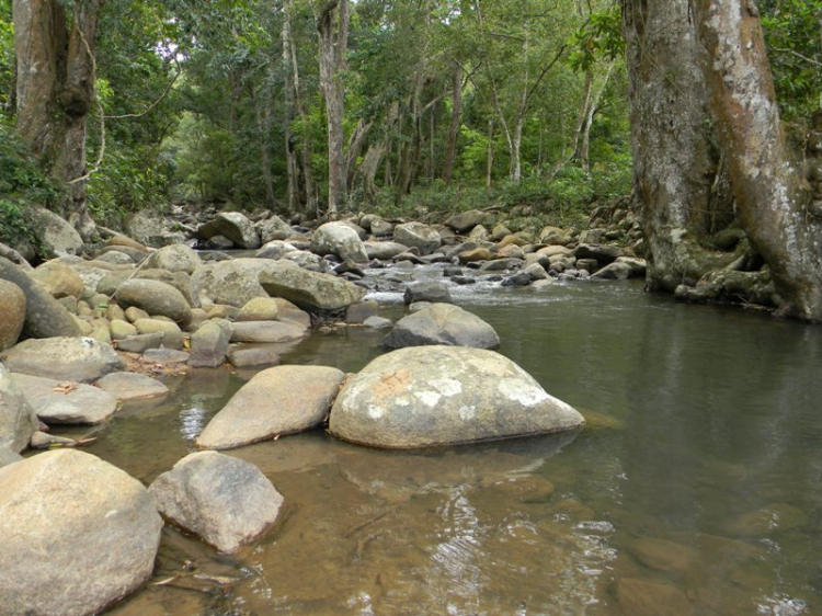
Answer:
<svg viewBox="0 0 822 616"><path fill-rule="evenodd" d="M367 215L316 229L220 213L190 228L196 243L146 224L133 227L136 239L111 232L90 258L57 232L55 258L36 269L0 258L0 537L14 536L3 539L13 574L0 582L0 611L87 614L129 594L151 573L161 516L220 551L275 525L276 489L222 454L192 454L148 489L78 450L21 457L82 445L49 426L104 424L121 401L167 395L167 372L261 370L206 426L202 449L326 423L334 436L381 448L579 429L582 415L494 353L496 332L454 306L449 288L486 282L539 293L555 281L642 276L630 248L608 243L637 239L636 221L620 220L616 231L514 233L482 212L439 226ZM221 252L228 248L249 252L235 258ZM416 280L416 265L435 263L447 284ZM401 294L409 315L380 317L373 292ZM383 344L395 351L345 375L278 366L259 345L297 344L331 320L385 327ZM112 479L100 486L103 475ZM37 524L24 524L32 512ZM82 560L66 564L78 551ZM23 580L31 593L19 592Z"/></svg>

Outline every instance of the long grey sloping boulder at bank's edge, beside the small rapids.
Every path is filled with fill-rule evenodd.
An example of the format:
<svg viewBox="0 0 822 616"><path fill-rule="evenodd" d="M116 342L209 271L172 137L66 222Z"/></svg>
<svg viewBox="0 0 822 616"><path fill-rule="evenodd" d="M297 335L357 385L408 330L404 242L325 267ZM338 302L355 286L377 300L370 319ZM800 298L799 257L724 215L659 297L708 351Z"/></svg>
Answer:
<svg viewBox="0 0 822 616"><path fill-rule="evenodd" d="M289 261L272 261L260 273L260 284L275 297L282 297L307 310L338 310L359 301L365 289L355 284L302 270Z"/></svg>

